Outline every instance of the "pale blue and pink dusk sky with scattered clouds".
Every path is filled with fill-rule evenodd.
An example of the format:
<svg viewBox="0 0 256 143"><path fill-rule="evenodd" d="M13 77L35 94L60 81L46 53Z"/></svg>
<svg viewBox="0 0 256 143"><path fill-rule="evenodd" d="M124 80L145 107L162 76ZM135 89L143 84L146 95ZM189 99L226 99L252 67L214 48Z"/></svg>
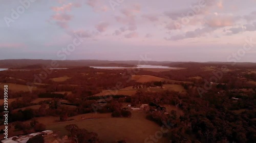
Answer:
<svg viewBox="0 0 256 143"><path fill-rule="evenodd" d="M0 60L256 62L256 0L0 3Z"/></svg>

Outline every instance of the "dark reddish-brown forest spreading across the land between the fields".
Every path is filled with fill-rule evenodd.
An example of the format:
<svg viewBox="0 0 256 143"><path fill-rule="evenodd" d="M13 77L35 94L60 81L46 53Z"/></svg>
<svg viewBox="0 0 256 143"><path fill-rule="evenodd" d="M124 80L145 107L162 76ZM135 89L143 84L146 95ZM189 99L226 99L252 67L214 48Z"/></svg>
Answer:
<svg viewBox="0 0 256 143"><path fill-rule="evenodd" d="M13 128L24 132L45 129L45 125L31 121L38 117L59 117L56 122L66 122L69 117L97 111L111 113L113 118L130 118L133 116L132 112L123 107L123 104L132 106L149 104L146 119L159 126L167 124L168 132L163 136L172 142L256 142L256 85L249 82L256 81L256 73L251 72L256 68L229 65L223 69L221 65L216 64L207 66L178 64L179 67L182 65L184 69L162 72L144 69L138 72L129 69L106 70L90 67L49 69L50 74L46 76L42 75L40 69L29 72L11 70L0 73L0 83L20 85L31 83L29 85L34 89L40 89L32 92L17 92L12 89L9 91L9 99L16 98L9 104L9 122L13 123ZM221 78L217 78L215 73ZM134 80L132 75L151 75L166 80L141 83ZM70 78L58 82L52 80L62 76ZM217 80L213 80L213 76ZM186 92L165 90L163 88L165 84L181 85ZM210 88L206 89L206 84ZM94 96L104 90L120 90L125 87L133 87L133 89L159 87L161 90L158 92L137 90L132 96L124 94ZM3 89L0 89L0 93L3 92ZM26 98L20 98L25 96ZM47 100L32 102L38 98L47 98ZM73 107L62 106L63 104ZM29 108L33 105L40 107ZM183 114L178 115L175 110L166 113L162 105L176 106L182 110ZM1 118L3 109L1 105ZM237 113L235 112L237 110L241 111ZM70 131L70 137L77 137L79 142L104 142L97 133L81 129L76 125L69 125L66 129ZM125 142L125 140L119 142Z"/></svg>

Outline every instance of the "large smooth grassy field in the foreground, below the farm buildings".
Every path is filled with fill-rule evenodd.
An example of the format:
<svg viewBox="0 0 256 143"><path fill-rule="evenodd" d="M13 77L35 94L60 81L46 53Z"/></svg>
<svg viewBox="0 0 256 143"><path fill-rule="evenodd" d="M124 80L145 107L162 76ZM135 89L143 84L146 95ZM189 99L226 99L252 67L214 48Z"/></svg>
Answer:
<svg viewBox="0 0 256 143"><path fill-rule="evenodd" d="M100 114L98 114L100 115ZM54 123L47 126L49 130L60 130L61 135L67 135L65 126L76 124L79 128L98 133L100 139L105 142L126 139L127 143L144 142L147 137L160 131L161 127L156 123L145 119L146 114L141 111L132 111L132 118L104 118L95 120L69 121ZM166 138L158 142L167 142Z"/></svg>

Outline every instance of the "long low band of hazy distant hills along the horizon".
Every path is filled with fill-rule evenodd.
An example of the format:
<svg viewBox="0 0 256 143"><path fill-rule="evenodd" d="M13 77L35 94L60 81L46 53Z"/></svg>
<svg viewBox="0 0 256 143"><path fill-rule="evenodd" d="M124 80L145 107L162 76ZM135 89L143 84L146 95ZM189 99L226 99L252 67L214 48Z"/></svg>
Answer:
<svg viewBox="0 0 256 143"><path fill-rule="evenodd" d="M34 69L42 66L50 66L53 60L0 60L0 68L19 68L19 69ZM159 65L169 67L189 68L194 66L231 66L233 63L228 62L157 62L157 61L103 61L103 60L66 60L56 61L58 68L73 68L73 67L87 67L87 66L113 66L113 67L134 67L136 65ZM236 63L234 67L253 67L256 63Z"/></svg>

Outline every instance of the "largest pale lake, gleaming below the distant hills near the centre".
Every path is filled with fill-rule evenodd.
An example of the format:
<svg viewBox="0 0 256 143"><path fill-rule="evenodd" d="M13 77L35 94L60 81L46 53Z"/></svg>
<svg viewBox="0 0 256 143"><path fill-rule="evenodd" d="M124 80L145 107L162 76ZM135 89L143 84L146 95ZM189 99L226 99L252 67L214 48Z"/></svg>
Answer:
<svg viewBox="0 0 256 143"><path fill-rule="evenodd" d="M145 68L145 69L176 69L176 68L170 68L167 66L154 66L154 65L137 65L137 67L94 67L91 66L91 68L95 69L131 69L131 68Z"/></svg>

